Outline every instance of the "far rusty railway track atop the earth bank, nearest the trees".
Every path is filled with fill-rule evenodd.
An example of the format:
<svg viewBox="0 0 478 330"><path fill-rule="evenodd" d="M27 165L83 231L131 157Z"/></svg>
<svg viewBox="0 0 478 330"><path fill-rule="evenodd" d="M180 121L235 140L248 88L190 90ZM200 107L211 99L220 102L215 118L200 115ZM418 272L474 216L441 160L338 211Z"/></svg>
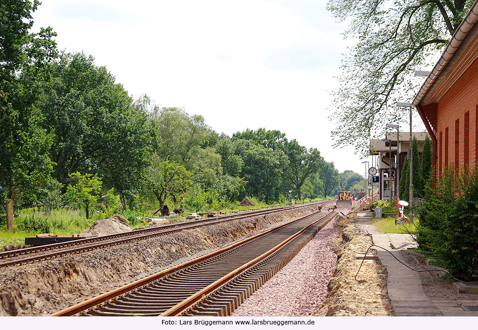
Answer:
<svg viewBox="0 0 478 330"><path fill-rule="evenodd" d="M323 203L330 201L323 201ZM201 226L207 226L217 224L226 221L232 221L236 219L267 215L278 211L290 210L297 207L313 205L321 202L293 205L286 207L277 207L259 211L244 212L234 215L224 215L205 219L199 219L196 221L181 222L170 225L157 226L152 228L134 230L131 232L125 232L120 234L112 234L105 236L98 236L92 238L86 238L71 242L55 243L39 247L31 247L25 249L18 249L12 251L5 251L0 253L0 268L20 265L25 263L33 263L46 259L51 259L67 254L81 253L85 251L91 251L95 249L101 249L108 246L124 244L134 240L148 239L154 236L167 235L182 230L197 228Z"/></svg>

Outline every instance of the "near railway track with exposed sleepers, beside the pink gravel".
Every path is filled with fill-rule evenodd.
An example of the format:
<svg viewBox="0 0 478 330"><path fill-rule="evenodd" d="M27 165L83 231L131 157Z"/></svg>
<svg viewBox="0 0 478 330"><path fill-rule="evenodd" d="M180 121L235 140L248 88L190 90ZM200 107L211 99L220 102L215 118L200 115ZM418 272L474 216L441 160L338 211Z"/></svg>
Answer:
<svg viewBox="0 0 478 330"><path fill-rule="evenodd" d="M316 211L51 316L229 315L336 215Z"/></svg>

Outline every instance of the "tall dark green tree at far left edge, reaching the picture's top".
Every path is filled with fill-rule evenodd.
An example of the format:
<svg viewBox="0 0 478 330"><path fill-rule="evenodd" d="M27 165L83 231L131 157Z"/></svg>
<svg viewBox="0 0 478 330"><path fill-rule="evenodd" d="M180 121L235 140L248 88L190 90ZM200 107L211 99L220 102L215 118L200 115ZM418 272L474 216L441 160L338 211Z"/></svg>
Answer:
<svg viewBox="0 0 478 330"><path fill-rule="evenodd" d="M7 190L7 228L13 228L14 191L36 198L49 181L51 162L45 156L51 138L39 127L37 105L45 64L56 56L51 28L29 33L35 0L0 5L0 186Z"/></svg>

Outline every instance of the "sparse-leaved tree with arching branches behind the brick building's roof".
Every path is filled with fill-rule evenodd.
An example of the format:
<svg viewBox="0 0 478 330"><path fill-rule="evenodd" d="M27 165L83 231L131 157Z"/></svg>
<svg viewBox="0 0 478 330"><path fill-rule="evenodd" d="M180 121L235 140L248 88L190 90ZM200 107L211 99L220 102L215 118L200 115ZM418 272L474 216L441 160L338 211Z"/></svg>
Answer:
<svg viewBox="0 0 478 330"><path fill-rule="evenodd" d="M368 153L368 139L400 121L396 101L415 95L413 71L432 64L474 0L330 0L328 10L347 20L357 39L343 62L331 119L335 146ZM431 59L431 60L430 60Z"/></svg>

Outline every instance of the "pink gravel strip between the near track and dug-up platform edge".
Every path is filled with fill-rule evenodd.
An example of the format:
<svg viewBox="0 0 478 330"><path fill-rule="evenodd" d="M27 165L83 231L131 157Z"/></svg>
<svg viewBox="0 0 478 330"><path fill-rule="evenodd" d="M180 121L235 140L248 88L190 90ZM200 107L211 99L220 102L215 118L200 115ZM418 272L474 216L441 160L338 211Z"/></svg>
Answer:
<svg viewBox="0 0 478 330"><path fill-rule="evenodd" d="M349 213L351 207L336 211ZM327 298L327 284L337 265L328 243L339 229L334 221L325 226L274 277L253 293L231 316L308 316Z"/></svg>

